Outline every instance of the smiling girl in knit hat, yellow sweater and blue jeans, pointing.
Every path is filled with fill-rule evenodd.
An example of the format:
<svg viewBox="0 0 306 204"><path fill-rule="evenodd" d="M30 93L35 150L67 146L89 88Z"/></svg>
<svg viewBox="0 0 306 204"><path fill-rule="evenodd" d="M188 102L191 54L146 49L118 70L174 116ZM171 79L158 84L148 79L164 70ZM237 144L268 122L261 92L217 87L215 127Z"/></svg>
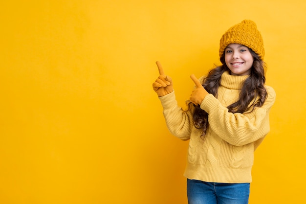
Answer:
<svg viewBox="0 0 306 204"><path fill-rule="evenodd" d="M187 111L178 107L171 77L159 62L153 90L170 132L189 141L189 204L248 204L254 151L269 132L275 92L265 86L262 35L250 20L220 39L221 66L196 84Z"/></svg>

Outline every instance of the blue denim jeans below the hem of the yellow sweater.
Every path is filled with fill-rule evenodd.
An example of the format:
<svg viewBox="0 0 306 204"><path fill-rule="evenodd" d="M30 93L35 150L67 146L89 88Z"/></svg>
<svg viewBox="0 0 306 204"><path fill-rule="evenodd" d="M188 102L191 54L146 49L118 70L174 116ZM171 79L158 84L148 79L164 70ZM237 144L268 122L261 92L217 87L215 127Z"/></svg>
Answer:
<svg viewBox="0 0 306 204"><path fill-rule="evenodd" d="M187 179L188 204L248 204L250 183L214 183Z"/></svg>

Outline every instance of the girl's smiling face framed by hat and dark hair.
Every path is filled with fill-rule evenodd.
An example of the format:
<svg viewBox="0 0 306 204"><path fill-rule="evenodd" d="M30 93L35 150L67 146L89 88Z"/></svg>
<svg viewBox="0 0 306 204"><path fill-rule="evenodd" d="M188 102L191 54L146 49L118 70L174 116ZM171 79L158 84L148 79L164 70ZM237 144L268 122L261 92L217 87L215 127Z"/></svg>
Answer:
<svg viewBox="0 0 306 204"><path fill-rule="evenodd" d="M232 75L249 75L254 58L248 47L240 44L229 44L225 48L225 63Z"/></svg>

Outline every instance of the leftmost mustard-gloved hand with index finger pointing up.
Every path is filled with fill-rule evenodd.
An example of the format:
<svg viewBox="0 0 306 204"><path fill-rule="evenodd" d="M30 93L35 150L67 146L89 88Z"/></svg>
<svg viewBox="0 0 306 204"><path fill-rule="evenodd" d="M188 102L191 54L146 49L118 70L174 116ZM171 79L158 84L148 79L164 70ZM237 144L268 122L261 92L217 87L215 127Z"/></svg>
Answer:
<svg viewBox="0 0 306 204"><path fill-rule="evenodd" d="M157 95L164 96L173 91L173 82L170 76L166 76L164 70L160 64L160 62L156 62L159 77L153 83L153 90L157 93Z"/></svg>

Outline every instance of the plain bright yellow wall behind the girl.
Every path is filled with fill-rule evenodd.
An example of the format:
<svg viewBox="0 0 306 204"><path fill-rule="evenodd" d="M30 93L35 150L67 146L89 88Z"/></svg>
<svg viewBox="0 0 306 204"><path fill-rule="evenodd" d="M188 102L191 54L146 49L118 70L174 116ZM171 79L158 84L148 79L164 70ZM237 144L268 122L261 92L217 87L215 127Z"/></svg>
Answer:
<svg viewBox="0 0 306 204"><path fill-rule="evenodd" d="M178 103L219 64L221 35L257 23L271 132L250 204L304 202L306 1L10 0L0 3L0 203L187 204L188 142L168 132L159 60Z"/></svg>

